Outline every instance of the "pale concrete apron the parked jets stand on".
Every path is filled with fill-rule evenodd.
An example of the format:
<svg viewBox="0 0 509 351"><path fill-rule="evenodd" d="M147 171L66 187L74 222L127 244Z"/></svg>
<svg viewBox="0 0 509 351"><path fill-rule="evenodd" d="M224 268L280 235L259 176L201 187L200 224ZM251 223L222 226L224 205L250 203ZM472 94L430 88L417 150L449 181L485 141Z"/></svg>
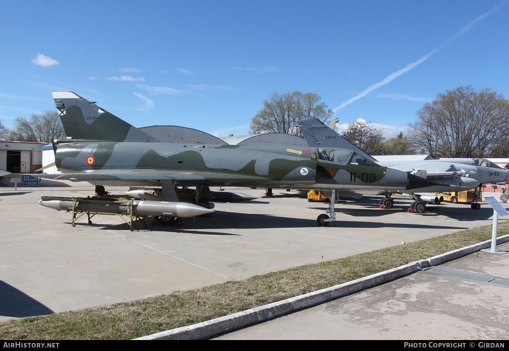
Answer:
<svg viewBox="0 0 509 351"><path fill-rule="evenodd" d="M111 187L113 193L127 188ZM218 189L211 189L218 190ZM0 187L0 320L109 305L143 297L241 280L309 263L334 260L403 242L427 239L492 223L483 205L429 205L407 213L410 198L390 210L375 197L340 200L336 222L317 226L323 203L292 190L228 189L259 196L245 203L216 204L211 216L182 225L134 224L118 216L71 214L38 204L41 196L93 195L88 183L43 180ZM500 219L505 220L505 219Z"/></svg>

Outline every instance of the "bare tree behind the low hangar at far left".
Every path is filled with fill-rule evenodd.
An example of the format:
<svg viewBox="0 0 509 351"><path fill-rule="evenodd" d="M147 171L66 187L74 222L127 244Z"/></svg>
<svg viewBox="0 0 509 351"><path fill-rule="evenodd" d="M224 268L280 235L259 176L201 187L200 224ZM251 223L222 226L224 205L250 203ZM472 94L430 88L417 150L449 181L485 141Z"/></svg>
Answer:
<svg viewBox="0 0 509 351"><path fill-rule="evenodd" d="M16 128L11 138L24 141L50 142L53 139L65 138L64 127L58 111L46 110L42 113L33 113L29 119L16 117Z"/></svg>

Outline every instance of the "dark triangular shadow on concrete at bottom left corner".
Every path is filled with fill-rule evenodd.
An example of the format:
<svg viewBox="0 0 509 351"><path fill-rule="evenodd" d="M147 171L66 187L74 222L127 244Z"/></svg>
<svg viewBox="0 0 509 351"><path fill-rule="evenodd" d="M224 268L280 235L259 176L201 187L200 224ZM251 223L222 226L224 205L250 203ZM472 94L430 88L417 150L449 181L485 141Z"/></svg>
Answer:
<svg viewBox="0 0 509 351"><path fill-rule="evenodd" d="M13 318L52 314L46 306L15 287L0 281L0 315Z"/></svg>

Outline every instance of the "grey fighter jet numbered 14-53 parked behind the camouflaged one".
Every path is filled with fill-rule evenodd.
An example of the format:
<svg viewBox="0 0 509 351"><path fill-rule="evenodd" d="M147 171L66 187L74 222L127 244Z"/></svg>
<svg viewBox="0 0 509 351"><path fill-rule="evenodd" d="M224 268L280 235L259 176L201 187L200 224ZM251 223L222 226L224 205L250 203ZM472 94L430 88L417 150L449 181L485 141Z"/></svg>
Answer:
<svg viewBox="0 0 509 351"><path fill-rule="evenodd" d="M375 162L390 169L397 169L412 173L418 177L422 177L436 183L435 186L423 189L414 188L411 189L410 192L408 189L400 189L397 191L386 189L354 190L354 193L359 194L385 195L385 198L380 200L380 205L385 205L387 208L391 208L393 205L393 200L390 197L393 193L410 194L414 199L414 202L410 205L410 207L414 210L414 212L422 213L426 209L426 203L436 203L439 202L439 200L435 195L424 195L418 194L417 192L453 192L476 189L476 194L478 196L483 184L509 181L509 170L503 169L487 159L448 158L417 162L380 162L372 156L364 153L357 146L353 145L350 141L339 135L330 127L325 126L324 123L316 118L305 118L300 120L299 128L302 131L304 139L307 141L308 145L321 145L325 149L328 147L350 148L352 151L364 156L371 162ZM347 192L348 191L345 191L343 195L348 196ZM353 194L352 191L349 192L350 194ZM352 197L355 197L355 195ZM475 199L471 203L470 207L472 209L479 209L480 204Z"/></svg>

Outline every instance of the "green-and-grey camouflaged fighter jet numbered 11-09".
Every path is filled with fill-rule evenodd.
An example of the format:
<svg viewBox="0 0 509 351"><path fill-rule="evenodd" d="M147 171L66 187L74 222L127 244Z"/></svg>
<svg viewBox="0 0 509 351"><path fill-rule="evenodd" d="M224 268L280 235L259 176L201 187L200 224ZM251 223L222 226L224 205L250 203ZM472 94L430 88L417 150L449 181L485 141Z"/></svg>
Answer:
<svg viewBox="0 0 509 351"><path fill-rule="evenodd" d="M52 95L67 134L67 139L52 142L55 165L64 174L42 177L87 181L96 189L104 189L104 185L160 187L158 194L140 197L132 209L108 206L113 213L131 211L136 216L172 218L212 212L203 203L180 202L178 186L195 186L195 200L206 203L210 186L396 190L434 185L416 175L382 167L350 149L164 143L74 92ZM57 199L42 199L40 204L57 210L72 206ZM98 211L95 208L101 205L75 206ZM321 214L319 225L335 219L334 199L327 212L330 218Z"/></svg>

